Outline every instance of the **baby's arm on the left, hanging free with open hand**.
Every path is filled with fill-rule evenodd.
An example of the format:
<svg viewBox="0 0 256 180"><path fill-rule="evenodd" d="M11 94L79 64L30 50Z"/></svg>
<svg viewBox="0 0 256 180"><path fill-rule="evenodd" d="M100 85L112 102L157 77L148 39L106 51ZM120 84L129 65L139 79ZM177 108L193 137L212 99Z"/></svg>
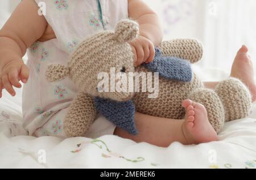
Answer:
<svg viewBox="0 0 256 180"><path fill-rule="evenodd" d="M14 96L13 86L27 82L29 71L22 57L48 25L38 9L35 1L23 0L0 30L0 98L2 89Z"/></svg>

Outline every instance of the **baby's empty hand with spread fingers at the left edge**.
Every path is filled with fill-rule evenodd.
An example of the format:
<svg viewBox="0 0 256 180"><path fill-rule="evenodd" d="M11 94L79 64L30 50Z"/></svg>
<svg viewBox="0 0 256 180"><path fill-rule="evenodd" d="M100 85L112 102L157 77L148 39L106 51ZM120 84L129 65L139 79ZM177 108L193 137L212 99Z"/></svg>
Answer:
<svg viewBox="0 0 256 180"><path fill-rule="evenodd" d="M22 60L13 60L7 62L2 69L0 69L0 98L2 97L2 90L6 89L12 96L16 93L13 89L15 87L22 87L19 83L21 80L26 83L29 76L27 65Z"/></svg>

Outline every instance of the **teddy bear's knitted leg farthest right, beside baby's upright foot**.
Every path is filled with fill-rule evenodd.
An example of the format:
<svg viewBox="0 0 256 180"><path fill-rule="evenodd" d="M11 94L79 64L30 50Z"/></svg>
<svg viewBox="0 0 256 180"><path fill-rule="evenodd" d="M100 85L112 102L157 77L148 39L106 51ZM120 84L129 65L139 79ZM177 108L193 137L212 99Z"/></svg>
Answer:
<svg viewBox="0 0 256 180"><path fill-rule="evenodd" d="M236 78L229 78L218 83L215 89L225 109L225 121L245 118L251 108L251 95L243 83Z"/></svg>

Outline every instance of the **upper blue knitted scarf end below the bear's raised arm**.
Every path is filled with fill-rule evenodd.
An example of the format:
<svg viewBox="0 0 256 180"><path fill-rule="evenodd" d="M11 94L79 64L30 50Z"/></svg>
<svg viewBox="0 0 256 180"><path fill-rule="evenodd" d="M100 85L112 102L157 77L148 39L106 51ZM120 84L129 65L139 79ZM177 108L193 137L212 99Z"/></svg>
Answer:
<svg viewBox="0 0 256 180"><path fill-rule="evenodd" d="M192 79L191 63L178 57L162 56L160 49L155 49L155 58L153 62L144 64L144 67L151 72L158 72L163 78L190 82Z"/></svg>

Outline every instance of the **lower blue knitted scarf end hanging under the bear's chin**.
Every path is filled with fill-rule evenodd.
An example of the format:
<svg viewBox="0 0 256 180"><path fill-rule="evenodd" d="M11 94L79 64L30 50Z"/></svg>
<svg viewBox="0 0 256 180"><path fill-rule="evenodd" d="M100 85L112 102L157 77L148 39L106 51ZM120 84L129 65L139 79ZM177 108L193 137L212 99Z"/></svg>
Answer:
<svg viewBox="0 0 256 180"><path fill-rule="evenodd" d="M117 102L109 99L95 98L95 106L110 122L132 135L137 135L135 127L135 106L133 101Z"/></svg>

